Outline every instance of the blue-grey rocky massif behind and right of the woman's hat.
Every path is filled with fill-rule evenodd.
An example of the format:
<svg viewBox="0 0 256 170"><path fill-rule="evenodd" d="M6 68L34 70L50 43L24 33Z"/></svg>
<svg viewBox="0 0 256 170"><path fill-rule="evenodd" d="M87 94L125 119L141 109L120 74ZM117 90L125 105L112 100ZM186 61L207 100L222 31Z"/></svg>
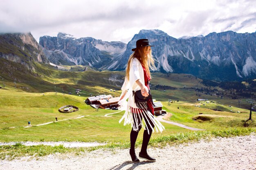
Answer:
<svg viewBox="0 0 256 170"><path fill-rule="evenodd" d="M161 72L188 73L218 81L253 78L256 75L256 33L227 31L205 37L176 39L160 30L141 30L127 44L127 52L139 38L148 38ZM125 59L130 53L125 53Z"/></svg>

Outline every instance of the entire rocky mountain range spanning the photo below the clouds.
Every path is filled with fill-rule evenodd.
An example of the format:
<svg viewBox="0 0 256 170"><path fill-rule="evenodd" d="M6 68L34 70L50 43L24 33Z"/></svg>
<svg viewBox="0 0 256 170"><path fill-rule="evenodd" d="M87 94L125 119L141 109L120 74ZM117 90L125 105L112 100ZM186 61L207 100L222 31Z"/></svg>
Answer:
<svg viewBox="0 0 256 170"><path fill-rule="evenodd" d="M161 30L141 30L128 44L75 38L66 33L40 37L38 44L31 33L10 33L0 35L0 58L32 70L30 61L122 71L140 38L147 38L155 45L152 52L162 73L186 73L216 81L256 76L256 32L214 32L176 39Z"/></svg>

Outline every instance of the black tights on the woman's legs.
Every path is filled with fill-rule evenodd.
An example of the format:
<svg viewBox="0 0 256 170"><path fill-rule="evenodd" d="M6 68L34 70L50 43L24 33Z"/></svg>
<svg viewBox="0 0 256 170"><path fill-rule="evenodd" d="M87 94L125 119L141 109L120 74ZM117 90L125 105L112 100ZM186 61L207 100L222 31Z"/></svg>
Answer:
<svg viewBox="0 0 256 170"><path fill-rule="evenodd" d="M147 154L147 148L148 148L148 142L150 140L150 137L151 137L151 134L152 134L152 129L150 128L150 124L151 126L154 128L154 124L153 122L149 119L149 117L146 115L146 119L145 119L145 115L143 115L143 118L144 120L148 119L148 121L146 120L146 127L148 127L148 130L149 130L149 134L148 134L148 130L145 129L144 130L144 133L143 133L143 141L142 141L142 146L141 146L141 153L142 154ZM139 134L139 131L141 130L141 124L142 124L142 120L140 121L139 118L136 118L133 114L132 114L132 118L133 118L133 122L138 122L139 124L139 129L137 131L135 131L133 128L132 128L132 131L130 133L130 142L131 142L131 145L130 145L130 153L131 154L135 154L135 142L137 140L137 137L138 137L138 134ZM137 119L137 121L136 121Z"/></svg>

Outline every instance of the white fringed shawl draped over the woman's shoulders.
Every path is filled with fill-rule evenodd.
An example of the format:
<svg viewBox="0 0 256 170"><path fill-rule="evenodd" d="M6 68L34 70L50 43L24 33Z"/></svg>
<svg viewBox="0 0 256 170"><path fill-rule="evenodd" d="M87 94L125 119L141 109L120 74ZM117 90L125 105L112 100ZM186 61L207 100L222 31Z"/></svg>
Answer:
<svg viewBox="0 0 256 170"><path fill-rule="evenodd" d="M121 123L121 121L124 119L124 126L126 124L131 124L131 127L134 130L139 130L140 124L139 122L137 122L137 120L139 119L140 122L142 123L142 118L145 117L148 119L146 120L144 119L144 123L147 121L150 127L147 127L147 124L145 124L144 126L143 123L141 124L141 126L142 128L148 130L148 134L149 134L149 128L151 128L153 132L155 131L162 132L164 130L164 126L157 119L155 119L154 115L152 115L152 113L150 113L148 110L142 110L142 111L140 110L139 113L131 112L131 108L137 108L135 104L134 96L132 95L132 91L141 90L138 84L136 83L136 81L138 79L141 79L141 81L144 83L143 68L137 58L132 59L132 62L130 64L129 74L130 74L129 80L126 77L124 84L121 88L122 90L121 96L124 95L126 90L128 91L124 96L124 98L118 102L121 108L123 108L126 111L123 117L119 120L119 123ZM128 102L126 102L127 99L128 99ZM134 119L132 118L132 114L136 118L135 122L134 122ZM150 121L153 122L153 124L155 125L155 131L154 131L154 128L150 125Z"/></svg>

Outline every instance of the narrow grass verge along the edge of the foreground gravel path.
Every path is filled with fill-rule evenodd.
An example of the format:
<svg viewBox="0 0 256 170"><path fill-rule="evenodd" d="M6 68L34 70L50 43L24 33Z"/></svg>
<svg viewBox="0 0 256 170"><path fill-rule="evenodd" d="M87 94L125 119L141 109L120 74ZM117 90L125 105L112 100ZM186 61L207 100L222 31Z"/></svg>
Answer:
<svg viewBox="0 0 256 170"><path fill-rule="evenodd" d="M149 146L151 147L164 147L166 145L175 146L178 144L188 142L198 142L202 139L210 140L214 137L236 137L251 135L256 132L256 128L227 128L223 130L207 130L207 131L194 131L183 132L171 135L163 135L150 139ZM142 140L136 143L136 147L142 144ZM90 152L98 149L126 149L130 147L130 141L110 142L105 146L95 146L90 148L65 148L63 145L59 146L25 146L21 143L16 143L11 146L0 146L0 159L12 160L24 156L41 157L56 153L71 153L80 155L83 152Z"/></svg>

